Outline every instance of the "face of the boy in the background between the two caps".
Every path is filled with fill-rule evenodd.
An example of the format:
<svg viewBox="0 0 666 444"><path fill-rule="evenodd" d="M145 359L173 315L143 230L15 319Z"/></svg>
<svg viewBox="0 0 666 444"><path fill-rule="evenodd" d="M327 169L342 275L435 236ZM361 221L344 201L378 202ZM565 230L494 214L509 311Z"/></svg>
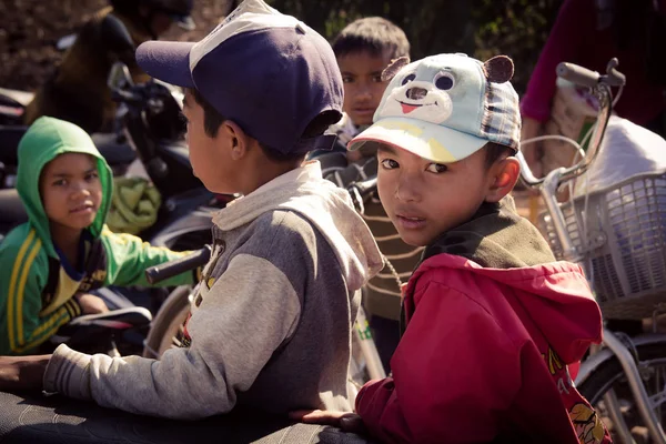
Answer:
<svg viewBox="0 0 666 444"><path fill-rule="evenodd" d="M344 112L356 125L372 124L382 94L389 84L382 71L391 62L387 54L373 56L367 51L351 52L337 58L344 83Z"/></svg>

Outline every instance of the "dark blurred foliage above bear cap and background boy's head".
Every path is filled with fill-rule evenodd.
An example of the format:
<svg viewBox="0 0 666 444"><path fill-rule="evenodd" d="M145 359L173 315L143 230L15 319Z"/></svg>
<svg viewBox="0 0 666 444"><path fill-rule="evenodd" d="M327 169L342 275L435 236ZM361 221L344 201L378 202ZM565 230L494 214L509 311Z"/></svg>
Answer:
<svg viewBox="0 0 666 444"><path fill-rule="evenodd" d="M562 0L271 0L332 39L349 22L382 16L400 26L412 59L465 52L480 60L509 56L523 92Z"/></svg>

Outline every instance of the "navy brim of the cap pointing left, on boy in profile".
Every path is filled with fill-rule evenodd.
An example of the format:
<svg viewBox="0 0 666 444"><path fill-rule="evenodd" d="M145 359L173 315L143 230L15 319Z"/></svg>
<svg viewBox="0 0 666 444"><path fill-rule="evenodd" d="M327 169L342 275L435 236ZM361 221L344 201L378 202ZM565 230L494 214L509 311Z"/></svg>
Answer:
<svg viewBox="0 0 666 444"><path fill-rule="evenodd" d="M150 77L178 87L194 88L190 71L192 42L148 41L137 48L137 63Z"/></svg>

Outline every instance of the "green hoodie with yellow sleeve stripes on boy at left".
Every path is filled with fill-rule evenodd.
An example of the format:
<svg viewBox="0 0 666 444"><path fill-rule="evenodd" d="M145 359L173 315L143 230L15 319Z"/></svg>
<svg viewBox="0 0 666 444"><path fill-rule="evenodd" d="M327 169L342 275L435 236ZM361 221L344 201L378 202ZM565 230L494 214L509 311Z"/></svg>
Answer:
<svg viewBox="0 0 666 444"><path fill-rule="evenodd" d="M103 190L94 222L81 236L81 270L62 262L51 240L49 219L39 192L42 169L57 155L84 153L97 158ZM143 271L183 253L153 248L104 225L113 192L109 165L79 127L53 118L38 119L19 144L17 191L29 222L13 229L0 244L0 355L33 351L81 307L72 296L105 285L148 285ZM192 283L193 273L163 285Z"/></svg>

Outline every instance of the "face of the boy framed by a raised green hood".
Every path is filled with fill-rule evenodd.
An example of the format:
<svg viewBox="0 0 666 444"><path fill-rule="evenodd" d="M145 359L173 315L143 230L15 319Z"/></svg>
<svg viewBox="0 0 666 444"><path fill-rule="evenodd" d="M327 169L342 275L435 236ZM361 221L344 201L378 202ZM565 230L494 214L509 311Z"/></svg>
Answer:
<svg viewBox="0 0 666 444"><path fill-rule="evenodd" d="M50 222L83 230L92 224L102 203L97 160L89 154L60 154L44 167L40 194Z"/></svg>

